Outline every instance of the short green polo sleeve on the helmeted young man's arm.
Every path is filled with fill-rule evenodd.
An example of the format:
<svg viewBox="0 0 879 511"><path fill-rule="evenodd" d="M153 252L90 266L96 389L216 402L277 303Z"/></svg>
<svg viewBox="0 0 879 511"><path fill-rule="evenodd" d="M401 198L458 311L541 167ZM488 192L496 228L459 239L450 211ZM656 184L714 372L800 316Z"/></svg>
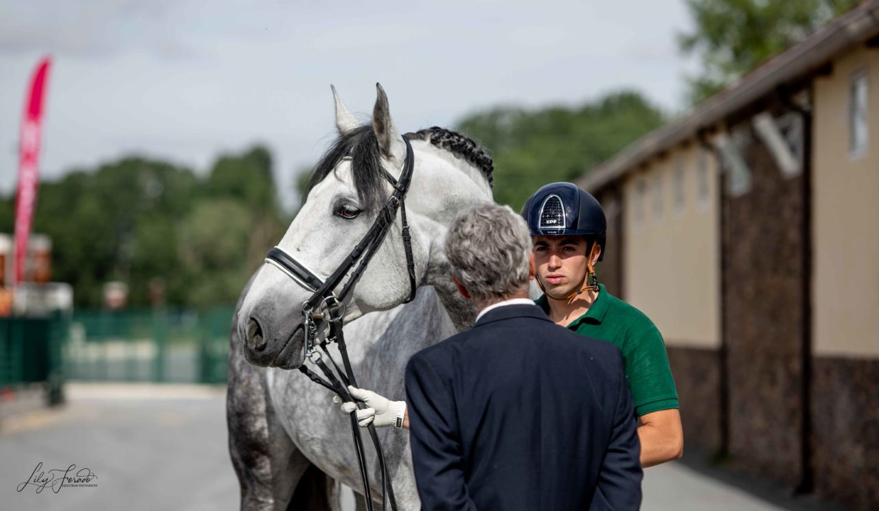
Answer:
<svg viewBox="0 0 879 511"><path fill-rule="evenodd" d="M628 388L632 391L638 417L678 408L678 391L665 353L665 342L655 325L650 323L628 332L623 355Z"/></svg>

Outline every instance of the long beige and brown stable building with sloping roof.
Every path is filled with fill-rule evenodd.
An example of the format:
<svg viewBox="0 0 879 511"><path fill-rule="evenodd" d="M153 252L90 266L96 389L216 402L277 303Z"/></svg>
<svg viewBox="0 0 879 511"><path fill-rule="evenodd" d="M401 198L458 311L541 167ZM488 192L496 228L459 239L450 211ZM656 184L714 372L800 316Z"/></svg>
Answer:
<svg viewBox="0 0 879 511"><path fill-rule="evenodd" d="M879 507L879 0L586 172L686 442Z"/></svg>

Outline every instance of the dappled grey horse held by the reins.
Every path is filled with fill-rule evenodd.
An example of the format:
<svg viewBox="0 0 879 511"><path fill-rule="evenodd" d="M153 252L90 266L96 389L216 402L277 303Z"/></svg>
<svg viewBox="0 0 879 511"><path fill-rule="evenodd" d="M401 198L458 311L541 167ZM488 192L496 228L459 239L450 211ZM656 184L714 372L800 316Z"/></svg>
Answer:
<svg viewBox="0 0 879 511"><path fill-rule="evenodd" d="M372 225L391 192L384 172L403 168L405 144L377 85L372 122L338 99L338 140L316 166L307 200L278 246L325 278ZM492 201L492 163L476 142L443 128L408 134L415 166L406 212L418 293L410 293L400 217L345 303L345 339L361 386L403 399L410 355L469 327L473 310L454 288L442 240L461 208ZM345 281L343 281L344 285ZM305 359L301 306L311 293L270 264L238 300L229 341L229 450L243 509L338 509L340 485L362 493L351 423L331 392L298 368ZM331 352L338 359L338 352ZM405 431L379 431L401 510L418 509ZM365 436L371 493L381 479Z"/></svg>

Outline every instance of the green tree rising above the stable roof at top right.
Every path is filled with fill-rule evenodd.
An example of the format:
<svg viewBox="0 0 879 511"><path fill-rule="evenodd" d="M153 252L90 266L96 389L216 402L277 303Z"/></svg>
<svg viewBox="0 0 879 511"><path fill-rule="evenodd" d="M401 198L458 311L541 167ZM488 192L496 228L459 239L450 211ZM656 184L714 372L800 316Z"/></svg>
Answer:
<svg viewBox="0 0 879 511"><path fill-rule="evenodd" d="M698 103L805 39L859 0L685 0L694 30L678 34L685 55L701 69L688 77L688 99Z"/></svg>

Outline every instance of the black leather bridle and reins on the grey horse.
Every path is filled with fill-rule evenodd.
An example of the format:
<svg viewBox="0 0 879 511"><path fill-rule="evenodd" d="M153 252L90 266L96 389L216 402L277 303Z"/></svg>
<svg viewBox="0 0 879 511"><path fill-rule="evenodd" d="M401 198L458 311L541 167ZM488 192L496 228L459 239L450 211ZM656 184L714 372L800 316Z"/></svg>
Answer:
<svg viewBox="0 0 879 511"><path fill-rule="evenodd" d="M406 270L409 274L409 297L403 303L409 303L415 298L415 292L418 286L415 281L415 261L412 258L412 243L409 233L409 223L406 220L406 192L409 191L409 185L412 179L412 170L415 166L415 156L412 153L412 146L405 136L403 142L406 144L406 159L403 163L403 172L400 178L395 179L387 170L382 169L385 179L388 179L394 192L391 193L384 207L379 211L378 216L372 227L369 228L367 234L360 239L360 242L354 246L353 250L342 261L336 270L325 280L322 280L314 274L308 267L294 259L289 252L276 246L265 256L265 262L276 266L280 271L287 274L301 287L312 292L311 296L305 303L302 303L302 330L305 339L306 359L316 365L321 370L326 379L318 376L314 371L309 369L304 361L299 370L309 376L315 383L319 383L330 391L336 393L339 398L345 401L353 401L358 408L365 406L362 401L352 398L348 392L348 385L358 387L357 380L351 368L351 361L348 359L348 350L345 346L345 336L342 331L342 318L345 315L345 299L351 294L352 289L360 280L360 275L367 268L370 259L373 258L375 252L378 251L385 237L388 235L390 226L396 218L396 210L400 209L400 221L403 231L403 251L406 254ZM356 265L356 266L355 266ZM353 269L353 271L351 271ZM348 281L342 287L342 290L336 294L335 289L345 278L345 275L351 272ZM317 341L317 334L321 332L323 326L329 324L329 333L323 342ZM342 362L345 367L343 372L339 369L338 364L327 350L327 345L331 342L338 342L338 351L342 355ZM331 365L336 369L336 374L323 361L321 352L318 347L326 355ZM360 436L360 428L357 424L357 417L351 414L351 427L354 439L354 447L357 451L357 462L360 465L360 475L363 479L364 497L367 503L367 509L373 510L373 501L369 489L369 476L367 475L367 459L363 451L363 439ZM381 450L378 434L375 427L370 424L368 427L369 435L373 440L376 453L378 454L379 464L381 465L381 508L385 508L386 498L390 500L391 509L396 511L396 499L394 498L394 489L391 485L388 471L385 464L384 454Z"/></svg>

